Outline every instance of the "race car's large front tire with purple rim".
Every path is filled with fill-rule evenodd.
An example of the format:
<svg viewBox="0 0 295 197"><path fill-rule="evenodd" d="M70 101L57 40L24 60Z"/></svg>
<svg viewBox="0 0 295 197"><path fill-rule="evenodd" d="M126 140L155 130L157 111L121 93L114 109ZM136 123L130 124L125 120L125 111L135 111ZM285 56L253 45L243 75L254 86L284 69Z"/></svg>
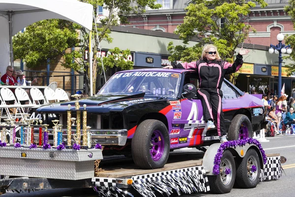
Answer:
<svg viewBox="0 0 295 197"><path fill-rule="evenodd" d="M169 134L164 123L145 120L137 127L131 142L134 163L140 168L163 167L170 152Z"/></svg>

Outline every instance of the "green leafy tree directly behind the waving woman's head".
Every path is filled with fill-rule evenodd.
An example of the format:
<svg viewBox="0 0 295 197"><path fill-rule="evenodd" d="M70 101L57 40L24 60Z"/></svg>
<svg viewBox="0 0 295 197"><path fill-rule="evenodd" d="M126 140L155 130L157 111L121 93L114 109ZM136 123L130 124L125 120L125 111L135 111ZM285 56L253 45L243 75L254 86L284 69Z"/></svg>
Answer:
<svg viewBox="0 0 295 197"><path fill-rule="evenodd" d="M256 3L261 7L267 5L264 0L194 0L185 8L184 22L175 32L184 45L174 46L170 42L168 50L172 56L169 60L196 61L201 57L202 46L212 43L222 59L233 62L236 47L248 37L250 30L255 32L248 24L247 15ZM199 43L187 47L191 39L197 39ZM231 82L235 83L235 75Z"/></svg>

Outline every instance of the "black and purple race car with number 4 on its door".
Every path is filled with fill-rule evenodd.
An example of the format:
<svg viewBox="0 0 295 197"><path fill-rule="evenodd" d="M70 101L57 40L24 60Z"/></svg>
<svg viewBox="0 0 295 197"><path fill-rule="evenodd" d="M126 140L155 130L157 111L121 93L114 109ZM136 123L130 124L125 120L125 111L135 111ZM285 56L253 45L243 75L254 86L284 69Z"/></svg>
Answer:
<svg viewBox="0 0 295 197"><path fill-rule="evenodd" d="M98 94L79 100L81 110L87 105L92 144L103 145L104 155L131 154L135 164L151 169L164 166L173 149L202 149L218 143L217 130L207 131L196 87L198 80L193 70L117 72ZM252 137L253 131L262 129L261 99L244 94L227 80L221 89L230 140ZM66 125L68 104L72 117L76 117L75 101L43 106L37 112L59 114L60 124Z"/></svg>

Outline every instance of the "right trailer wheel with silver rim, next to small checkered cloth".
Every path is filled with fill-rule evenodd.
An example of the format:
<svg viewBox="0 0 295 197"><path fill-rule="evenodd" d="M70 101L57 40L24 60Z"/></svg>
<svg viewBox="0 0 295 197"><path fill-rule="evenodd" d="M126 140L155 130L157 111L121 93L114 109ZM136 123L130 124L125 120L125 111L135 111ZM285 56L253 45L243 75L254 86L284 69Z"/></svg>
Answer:
<svg viewBox="0 0 295 197"><path fill-rule="evenodd" d="M252 172L252 165L257 170ZM255 188L260 178L260 160L254 149L249 149L236 169L236 184L241 188Z"/></svg>

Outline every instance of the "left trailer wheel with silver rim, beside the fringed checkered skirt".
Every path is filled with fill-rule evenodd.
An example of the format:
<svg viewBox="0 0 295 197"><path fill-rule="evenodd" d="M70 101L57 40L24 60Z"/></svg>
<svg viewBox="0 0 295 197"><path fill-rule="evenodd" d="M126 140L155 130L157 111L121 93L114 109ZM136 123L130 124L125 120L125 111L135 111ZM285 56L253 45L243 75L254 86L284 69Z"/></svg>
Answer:
<svg viewBox="0 0 295 197"><path fill-rule="evenodd" d="M229 174L225 173L226 168L231 169ZM208 181L210 190L216 194L226 194L231 192L236 177L236 165L233 154L226 150L220 163L220 173L217 175L209 175Z"/></svg>

